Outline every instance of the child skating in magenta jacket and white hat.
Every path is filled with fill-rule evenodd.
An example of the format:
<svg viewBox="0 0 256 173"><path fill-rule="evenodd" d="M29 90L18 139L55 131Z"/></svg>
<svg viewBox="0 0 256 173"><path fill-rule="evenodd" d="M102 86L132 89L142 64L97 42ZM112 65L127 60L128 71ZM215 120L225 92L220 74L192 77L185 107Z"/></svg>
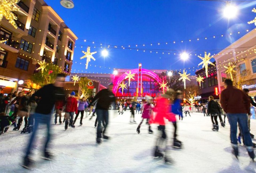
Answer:
<svg viewBox="0 0 256 173"><path fill-rule="evenodd" d="M153 108L154 108L154 105L152 104L152 99L153 98L150 96L145 96L145 100L147 103L145 103L143 105L142 121L141 121L141 123L139 123L139 125L137 127L138 134L141 132L140 128L141 128L141 125L142 125L144 119L149 120L148 121L149 133L153 133L153 130L151 130L151 126L150 126L152 118L153 118Z"/></svg>

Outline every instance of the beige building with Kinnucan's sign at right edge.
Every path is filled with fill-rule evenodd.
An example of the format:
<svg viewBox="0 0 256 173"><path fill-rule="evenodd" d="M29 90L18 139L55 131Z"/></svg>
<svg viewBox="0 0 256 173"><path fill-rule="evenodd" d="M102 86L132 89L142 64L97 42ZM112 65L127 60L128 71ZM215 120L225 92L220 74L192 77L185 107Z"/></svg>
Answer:
<svg viewBox="0 0 256 173"><path fill-rule="evenodd" d="M256 30L248 32L246 35L226 47L214 56L217 66L218 87L221 92L224 89L224 80L231 78L225 67L234 65L234 82L241 83L239 88L251 90L249 95L256 94Z"/></svg>

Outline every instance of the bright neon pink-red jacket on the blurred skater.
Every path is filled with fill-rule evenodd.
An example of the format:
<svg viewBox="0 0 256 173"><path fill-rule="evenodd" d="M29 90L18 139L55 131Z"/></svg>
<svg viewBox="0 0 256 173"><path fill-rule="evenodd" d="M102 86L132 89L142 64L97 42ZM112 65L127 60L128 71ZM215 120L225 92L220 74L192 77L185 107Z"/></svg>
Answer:
<svg viewBox="0 0 256 173"><path fill-rule="evenodd" d="M159 96L156 99L155 105L155 117L153 119L153 123L157 123L159 125L165 125L165 119L169 121L174 121L175 114L170 112L169 100L162 96Z"/></svg>

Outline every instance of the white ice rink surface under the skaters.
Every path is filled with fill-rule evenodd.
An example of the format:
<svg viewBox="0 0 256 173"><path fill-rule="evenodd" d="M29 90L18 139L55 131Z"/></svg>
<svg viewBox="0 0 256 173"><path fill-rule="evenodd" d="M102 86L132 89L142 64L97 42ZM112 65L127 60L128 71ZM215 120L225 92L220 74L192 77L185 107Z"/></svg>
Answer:
<svg viewBox="0 0 256 173"><path fill-rule="evenodd" d="M35 160L32 171L25 170L20 165L30 134L20 134L12 131L0 136L0 172L255 172L256 162L249 158L246 148L239 146L239 161L231 155L229 138L229 123L220 127L219 132L212 131L210 117L202 113L192 113L191 117L178 120L178 139L183 142L183 149L171 147L173 126L168 123L168 156L172 164L165 164L161 159L152 156L157 133L153 125L154 134L148 134L148 126L142 124L141 133L136 129L141 114L136 114L137 124L129 124L130 111L118 115L117 111L110 111L110 122L107 135L110 140L98 145L95 142L95 117L83 119L83 126L79 126L79 119L75 128L64 125L53 125L53 140L51 152L55 155L53 161L41 159L42 139L45 135L44 126L40 126L38 138L33 150ZM52 121L53 122L53 121ZM24 121L23 121L24 123ZM256 121L251 120L251 133L256 134ZM23 125L22 125L23 128ZM254 142L256 140L253 139Z"/></svg>

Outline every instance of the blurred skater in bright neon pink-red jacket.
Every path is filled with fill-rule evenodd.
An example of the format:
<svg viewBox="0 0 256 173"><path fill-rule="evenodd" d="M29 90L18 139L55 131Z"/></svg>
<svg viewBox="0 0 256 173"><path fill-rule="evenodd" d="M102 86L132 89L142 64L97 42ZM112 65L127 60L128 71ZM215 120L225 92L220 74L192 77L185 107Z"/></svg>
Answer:
<svg viewBox="0 0 256 173"><path fill-rule="evenodd" d="M170 112L169 98L174 91L168 89L165 94L161 94L156 98L156 105L154 108L155 117L153 123L157 123L159 136L156 141L156 146L154 147L155 157L164 157L166 163L171 162L167 156L167 135L165 131L165 119L172 121L175 118L175 114ZM162 146L162 148L161 148Z"/></svg>

